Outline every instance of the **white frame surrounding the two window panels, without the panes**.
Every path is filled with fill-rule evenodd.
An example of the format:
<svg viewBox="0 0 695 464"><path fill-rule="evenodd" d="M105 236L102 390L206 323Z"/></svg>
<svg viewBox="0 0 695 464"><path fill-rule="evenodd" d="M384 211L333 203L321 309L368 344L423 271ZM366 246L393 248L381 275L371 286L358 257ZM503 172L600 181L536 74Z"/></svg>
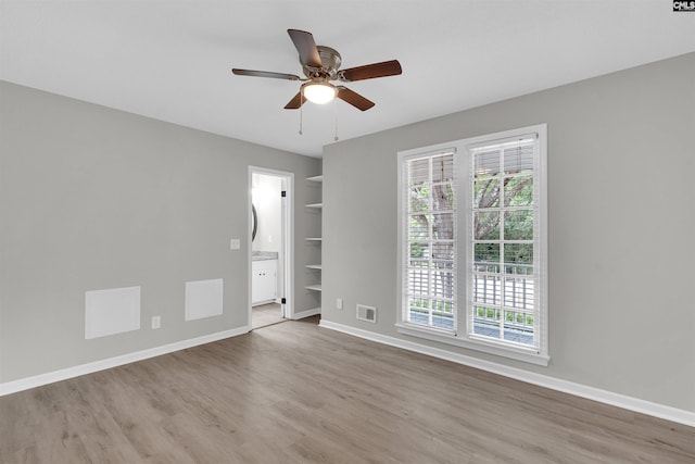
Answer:
<svg viewBox="0 0 695 464"><path fill-rule="evenodd" d="M538 291L534 289L535 298L538 298L538 315L536 330L538 336L535 347L526 347L520 343L505 342L504 340L490 339L489 337L476 336L469 325L472 324L470 316L472 296L469 296L470 276L472 275L472 263L470 259L470 235L471 235L471 217L472 202L470 201L470 172L471 172L471 149L483 145L492 145L496 141L505 139L514 139L534 134L536 136L536 156L534 160L534 193L539 200L534 205L538 217L534 247L534 265L538 263L538 275L535 283ZM457 214L457 233L456 233L456 259L455 267L458 269L456 283L456 306L457 306L457 326L455 330L442 330L427 327L419 324L408 323L406 318L407 299L403 286L407 285L407 202L408 196L405 191L407 188L407 178L405 178L405 162L414 158L421 158L428 154L441 153L444 150L454 151L455 172L456 172L456 200L455 204L458 209ZM495 354L508 359L523 361L532 364L547 366L549 362L548 353L548 298L547 298L547 125L539 124L519 129L505 130L495 134L488 134L479 137L471 137L453 142L440 143L435 146L425 147L414 150L405 150L397 153L399 160L399 292L397 302L399 311L396 318L396 329L399 333L433 340L446 344L464 347L490 354Z"/></svg>

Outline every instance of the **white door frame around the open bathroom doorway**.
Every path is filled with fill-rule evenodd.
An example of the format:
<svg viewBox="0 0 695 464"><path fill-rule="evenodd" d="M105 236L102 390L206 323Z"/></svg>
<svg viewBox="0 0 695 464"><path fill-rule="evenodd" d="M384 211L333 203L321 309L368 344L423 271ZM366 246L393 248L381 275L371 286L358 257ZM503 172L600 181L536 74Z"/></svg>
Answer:
<svg viewBox="0 0 695 464"><path fill-rule="evenodd" d="M253 255L253 240L252 240L252 227L251 224L251 205L252 205L252 195L251 189L253 188L253 174L263 174L266 176L279 177L283 180L283 188L287 191L287 197L281 202L282 209L282 221L281 221L281 229L282 229L282 254L283 254L283 266L282 266L282 279L285 294L278 296L278 298L285 297L286 303L282 305L282 315L289 319L294 317L294 208L293 208L293 198L294 198L294 173L289 173L286 171L277 171L270 170L267 167L260 166L249 166L249 201L248 201L248 214L247 220L249 221L249 241L247 243L248 250L248 272L249 276L249 288L248 288L248 305L249 305L249 314L248 314L248 325L252 326L252 306L251 306L251 265L252 265L252 255Z"/></svg>

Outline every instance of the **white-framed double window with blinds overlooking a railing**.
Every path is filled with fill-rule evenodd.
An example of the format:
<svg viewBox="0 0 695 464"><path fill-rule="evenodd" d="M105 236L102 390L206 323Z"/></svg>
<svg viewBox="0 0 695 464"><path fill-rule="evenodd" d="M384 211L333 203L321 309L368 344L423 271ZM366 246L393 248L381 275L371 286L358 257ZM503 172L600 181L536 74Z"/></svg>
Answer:
<svg viewBox="0 0 695 464"><path fill-rule="evenodd" d="M545 139L399 153L399 331L547 364Z"/></svg>

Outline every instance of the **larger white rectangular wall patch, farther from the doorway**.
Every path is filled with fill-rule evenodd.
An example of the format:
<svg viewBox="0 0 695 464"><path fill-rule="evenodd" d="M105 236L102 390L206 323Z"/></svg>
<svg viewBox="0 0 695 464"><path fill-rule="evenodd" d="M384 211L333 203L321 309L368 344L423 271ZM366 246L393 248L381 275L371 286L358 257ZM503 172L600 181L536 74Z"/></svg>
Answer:
<svg viewBox="0 0 695 464"><path fill-rule="evenodd" d="M140 328L140 287L85 292L85 339Z"/></svg>

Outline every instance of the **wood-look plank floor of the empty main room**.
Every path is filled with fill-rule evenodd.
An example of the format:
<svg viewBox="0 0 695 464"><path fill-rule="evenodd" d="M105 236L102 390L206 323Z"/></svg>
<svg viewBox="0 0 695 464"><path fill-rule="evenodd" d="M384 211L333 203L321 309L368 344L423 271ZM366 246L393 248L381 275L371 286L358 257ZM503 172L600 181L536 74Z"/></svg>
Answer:
<svg viewBox="0 0 695 464"><path fill-rule="evenodd" d="M0 462L695 462L695 428L316 323L2 397Z"/></svg>

